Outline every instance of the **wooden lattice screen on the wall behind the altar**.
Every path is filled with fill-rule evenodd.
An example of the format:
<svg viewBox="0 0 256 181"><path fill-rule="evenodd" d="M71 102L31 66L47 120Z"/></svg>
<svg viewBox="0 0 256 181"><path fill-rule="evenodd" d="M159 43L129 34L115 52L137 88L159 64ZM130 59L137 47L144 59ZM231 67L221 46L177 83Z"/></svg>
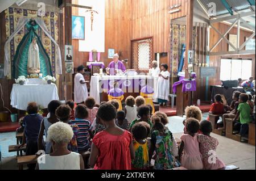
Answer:
<svg viewBox="0 0 256 181"><path fill-rule="evenodd" d="M138 71L138 73L147 73L151 68L153 60L153 39L152 37L146 39L131 41L131 68Z"/></svg>

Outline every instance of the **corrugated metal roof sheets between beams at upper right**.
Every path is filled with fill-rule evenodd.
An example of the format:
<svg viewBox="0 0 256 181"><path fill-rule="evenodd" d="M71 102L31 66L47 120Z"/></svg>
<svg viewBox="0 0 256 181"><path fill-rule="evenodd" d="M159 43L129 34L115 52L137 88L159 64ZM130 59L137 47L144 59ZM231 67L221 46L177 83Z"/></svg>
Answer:
<svg viewBox="0 0 256 181"><path fill-rule="evenodd" d="M229 13L225 6L222 4L220 0L199 0L201 4L208 11L210 7L208 7L209 3L213 2L216 4L216 15L222 15ZM229 6L232 7L235 11L244 10L250 7L250 4L247 0L226 0Z"/></svg>

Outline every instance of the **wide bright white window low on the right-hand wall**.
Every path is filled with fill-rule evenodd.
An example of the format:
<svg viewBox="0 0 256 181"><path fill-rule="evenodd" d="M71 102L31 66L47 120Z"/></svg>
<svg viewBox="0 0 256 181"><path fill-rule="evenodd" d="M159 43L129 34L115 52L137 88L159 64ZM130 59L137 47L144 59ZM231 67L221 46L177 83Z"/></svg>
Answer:
<svg viewBox="0 0 256 181"><path fill-rule="evenodd" d="M251 77L253 62L241 59L221 59L220 79L221 81L243 80Z"/></svg>

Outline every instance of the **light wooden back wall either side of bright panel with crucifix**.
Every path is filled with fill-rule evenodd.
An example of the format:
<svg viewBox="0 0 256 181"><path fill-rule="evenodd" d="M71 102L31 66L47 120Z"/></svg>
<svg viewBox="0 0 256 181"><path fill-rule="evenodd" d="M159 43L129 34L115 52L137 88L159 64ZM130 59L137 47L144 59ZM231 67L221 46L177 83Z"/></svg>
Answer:
<svg viewBox="0 0 256 181"><path fill-rule="evenodd" d="M73 3L77 4L77 0ZM105 66L111 59L108 58L108 49L115 49L121 54L120 60L130 60L131 39L131 2L132 0L105 0L105 53L101 53L101 61ZM78 15L78 9L72 8L72 14ZM72 40L75 68L86 65L89 59L88 52L79 52L79 41Z"/></svg>

